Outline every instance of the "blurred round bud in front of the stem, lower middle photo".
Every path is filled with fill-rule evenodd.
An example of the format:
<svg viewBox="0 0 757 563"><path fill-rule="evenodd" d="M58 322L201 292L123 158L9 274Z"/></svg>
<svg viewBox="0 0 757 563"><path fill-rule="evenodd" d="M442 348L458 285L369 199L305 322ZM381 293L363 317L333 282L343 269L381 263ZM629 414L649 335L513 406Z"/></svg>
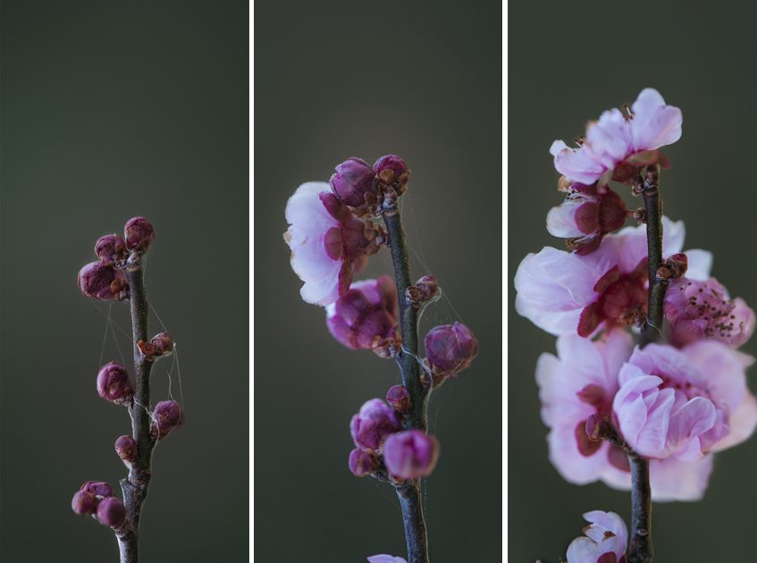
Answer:
<svg viewBox="0 0 757 563"><path fill-rule="evenodd" d="M439 458L439 441L420 430L391 434L383 444L383 461L400 479L431 475Z"/></svg>

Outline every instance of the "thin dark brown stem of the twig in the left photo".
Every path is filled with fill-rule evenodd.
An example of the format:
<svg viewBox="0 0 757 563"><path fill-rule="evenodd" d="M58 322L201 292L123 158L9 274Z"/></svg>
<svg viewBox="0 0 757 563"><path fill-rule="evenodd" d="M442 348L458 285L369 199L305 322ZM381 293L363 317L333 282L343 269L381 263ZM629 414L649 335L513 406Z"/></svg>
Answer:
<svg viewBox="0 0 757 563"><path fill-rule="evenodd" d="M136 390L129 406L131 431L137 442L138 457L130 463L129 475L120 481L126 524L116 530L121 563L139 561L139 516L147 498L151 476L151 457L155 441L150 438L150 370L153 363L139 351L137 343L147 341L147 293L139 253L132 252L126 265L131 305L131 332L134 340L134 374Z"/></svg>

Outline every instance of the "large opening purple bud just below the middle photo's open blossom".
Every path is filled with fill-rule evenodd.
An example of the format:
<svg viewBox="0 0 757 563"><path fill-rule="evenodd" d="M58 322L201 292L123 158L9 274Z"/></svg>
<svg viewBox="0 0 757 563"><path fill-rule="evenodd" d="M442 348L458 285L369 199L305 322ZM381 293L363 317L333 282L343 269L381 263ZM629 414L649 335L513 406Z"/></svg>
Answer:
<svg viewBox="0 0 757 563"><path fill-rule="evenodd" d="M351 349L372 349L374 340L397 332L397 286L388 276L356 281L349 291L326 307L332 336Z"/></svg>

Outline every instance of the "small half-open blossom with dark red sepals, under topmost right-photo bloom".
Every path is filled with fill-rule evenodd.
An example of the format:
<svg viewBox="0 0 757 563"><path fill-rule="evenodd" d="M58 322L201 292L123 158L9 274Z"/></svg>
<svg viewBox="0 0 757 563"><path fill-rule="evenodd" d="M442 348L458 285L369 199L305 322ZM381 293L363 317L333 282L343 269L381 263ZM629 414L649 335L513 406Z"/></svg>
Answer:
<svg viewBox="0 0 757 563"><path fill-rule="evenodd" d="M622 227L626 218L626 204L612 189L576 183L565 201L547 214L547 231L568 239L568 246L583 255L596 250L602 237Z"/></svg>

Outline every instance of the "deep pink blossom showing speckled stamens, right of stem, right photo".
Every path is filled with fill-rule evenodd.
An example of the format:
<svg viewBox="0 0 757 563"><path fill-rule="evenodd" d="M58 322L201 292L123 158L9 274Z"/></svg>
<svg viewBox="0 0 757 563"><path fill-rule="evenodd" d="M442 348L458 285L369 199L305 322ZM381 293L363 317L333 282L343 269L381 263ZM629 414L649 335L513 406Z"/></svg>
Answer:
<svg viewBox="0 0 757 563"><path fill-rule="evenodd" d="M670 281L665 294L670 342L678 347L711 338L738 348L754 332L754 311L743 299L731 299L715 278Z"/></svg>

